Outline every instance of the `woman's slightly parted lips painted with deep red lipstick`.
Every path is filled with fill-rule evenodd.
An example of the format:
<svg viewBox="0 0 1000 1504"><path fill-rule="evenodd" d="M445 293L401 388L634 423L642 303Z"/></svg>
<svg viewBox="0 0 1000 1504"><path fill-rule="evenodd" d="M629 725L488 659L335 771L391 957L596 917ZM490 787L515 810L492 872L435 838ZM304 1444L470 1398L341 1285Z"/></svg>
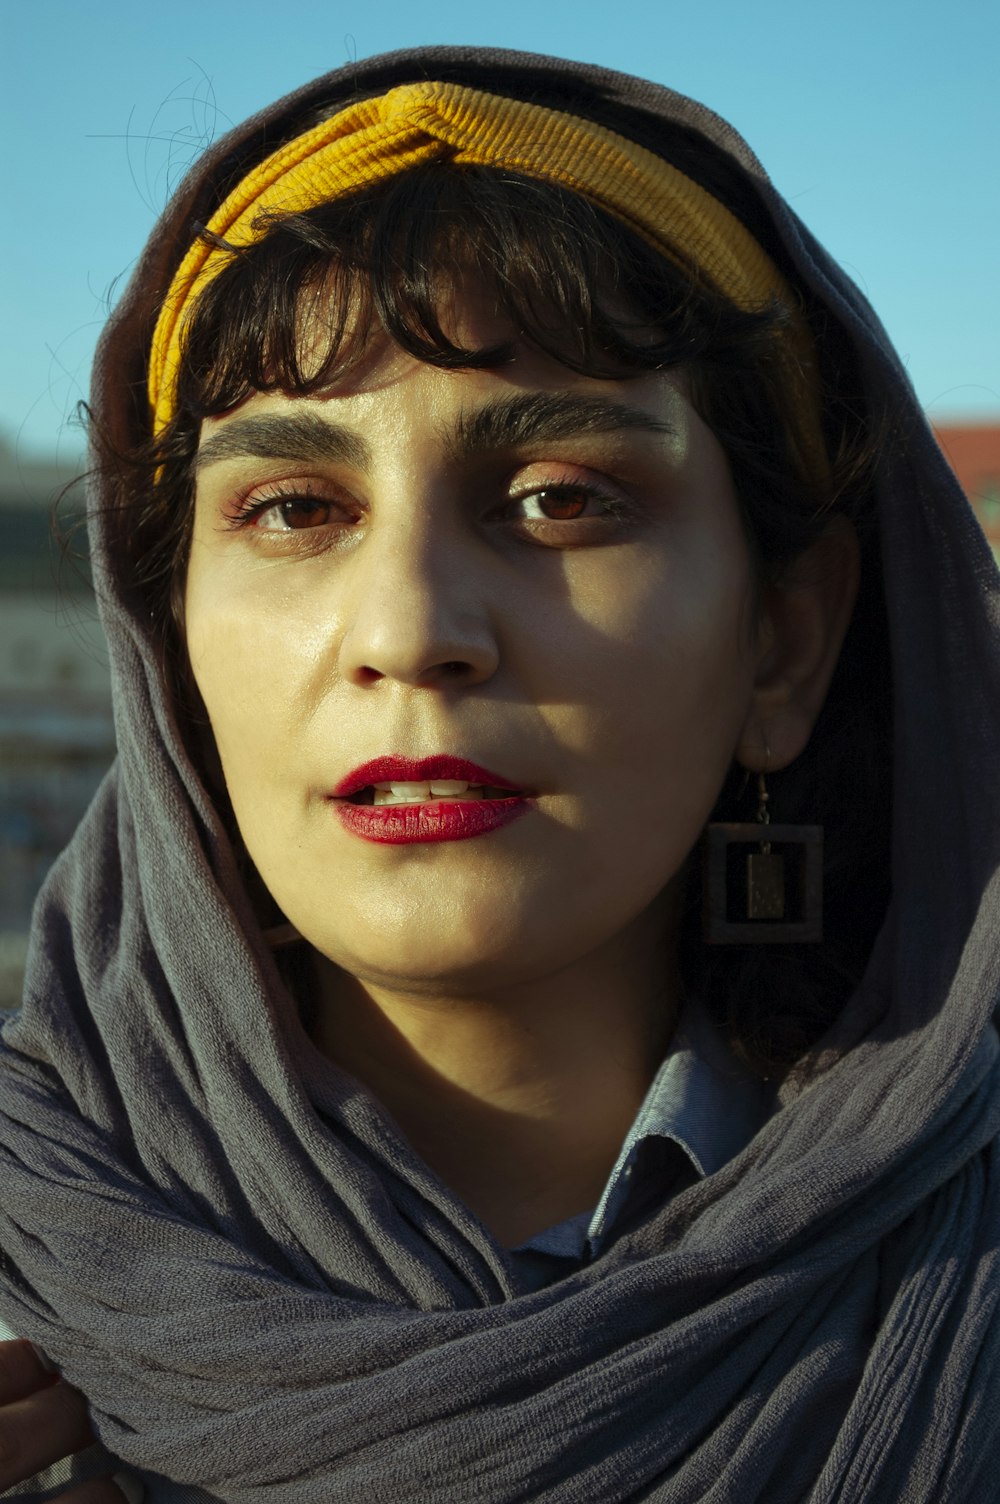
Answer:
<svg viewBox="0 0 1000 1504"><path fill-rule="evenodd" d="M376 784L465 782L481 793L462 793L415 803L374 803ZM430 841L468 841L499 830L531 809L531 796L501 773L441 754L426 758L379 757L362 763L329 796L344 829L362 841L409 845Z"/></svg>

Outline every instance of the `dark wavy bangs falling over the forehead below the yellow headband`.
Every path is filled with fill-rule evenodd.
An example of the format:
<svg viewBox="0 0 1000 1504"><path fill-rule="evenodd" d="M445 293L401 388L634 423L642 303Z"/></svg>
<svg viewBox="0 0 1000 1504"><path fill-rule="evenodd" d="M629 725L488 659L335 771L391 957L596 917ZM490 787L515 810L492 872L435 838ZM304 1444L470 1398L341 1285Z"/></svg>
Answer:
<svg viewBox="0 0 1000 1504"><path fill-rule="evenodd" d="M188 420L251 391L316 391L379 331L445 368L502 365L520 340L621 379L737 352L746 367L747 344L761 356L783 328L780 313L740 311L680 253L666 262L579 194L496 168L432 162L257 229L191 316L177 388ZM444 311L463 286L493 301L510 340L454 343Z"/></svg>

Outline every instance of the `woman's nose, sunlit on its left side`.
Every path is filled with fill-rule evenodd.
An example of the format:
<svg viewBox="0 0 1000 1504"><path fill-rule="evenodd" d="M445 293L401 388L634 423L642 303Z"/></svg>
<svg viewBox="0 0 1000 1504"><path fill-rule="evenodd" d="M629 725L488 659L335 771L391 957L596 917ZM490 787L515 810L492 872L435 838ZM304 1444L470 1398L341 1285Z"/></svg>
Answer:
<svg viewBox="0 0 1000 1504"><path fill-rule="evenodd" d="M462 689L496 672L489 566L475 538L430 520L376 525L347 570L340 672L349 683Z"/></svg>

